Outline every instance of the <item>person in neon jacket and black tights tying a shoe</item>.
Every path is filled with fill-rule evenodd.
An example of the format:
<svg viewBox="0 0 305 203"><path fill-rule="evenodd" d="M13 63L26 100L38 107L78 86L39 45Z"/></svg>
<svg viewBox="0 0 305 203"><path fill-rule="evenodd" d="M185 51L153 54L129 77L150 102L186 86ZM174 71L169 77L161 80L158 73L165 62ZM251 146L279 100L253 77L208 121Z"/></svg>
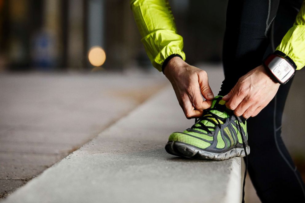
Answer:
<svg viewBox="0 0 305 203"><path fill-rule="evenodd" d="M228 1L225 79L215 97L207 72L185 62L168 1L131 0L131 9L152 65L171 82L185 116L196 118L169 136L166 151L225 160L247 157L249 142L246 165L260 200L305 202L304 182L281 139L292 76L305 65L305 1Z"/></svg>

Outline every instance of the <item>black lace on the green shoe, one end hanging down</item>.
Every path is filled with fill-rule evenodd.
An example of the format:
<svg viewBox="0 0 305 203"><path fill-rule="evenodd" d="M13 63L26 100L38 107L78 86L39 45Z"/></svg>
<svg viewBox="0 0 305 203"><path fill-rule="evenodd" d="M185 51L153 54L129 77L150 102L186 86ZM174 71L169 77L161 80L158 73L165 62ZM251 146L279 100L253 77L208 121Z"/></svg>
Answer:
<svg viewBox="0 0 305 203"><path fill-rule="evenodd" d="M216 108L210 108L210 109L207 109L207 110L204 110L204 115L200 118L200 121L202 120L208 120L209 122L212 122L214 123L215 125L217 125L219 128L221 128L221 123L219 122L219 119L221 121L224 121L225 119L224 118L221 118L219 117L218 115L214 114L211 112L211 110L217 110L219 111L219 109L216 109ZM232 112L229 112L229 110L227 109L224 109L224 111L226 111L229 115L232 114ZM244 173L244 182L243 182L243 199L242 199L242 203L245 202L245 184L246 184L246 177L247 177L247 170L248 170L248 153L247 153L247 149L246 149L246 141L245 139L246 136L243 135L243 130L242 130L242 127L241 127L241 124L240 124L240 120L238 119L238 117L236 115L233 114L233 116L235 116L236 120L237 120L237 123L238 123L238 126L240 128L240 134L241 134L241 137L242 137L242 141L243 141L243 148L244 148L244 152L245 152L245 164L246 164L246 169L245 169L245 173ZM214 118L217 123L213 122L211 119L209 118ZM232 115L230 115L229 119L231 120L232 119ZM243 119L241 119L243 120ZM245 120L245 119L244 119ZM244 122L244 121L242 121ZM200 126L195 126L196 124L199 124ZM232 129L232 126L229 125ZM215 127L207 127L205 126L203 123L201 122L198 122L198 119L196 118L195 119L195 124L192 126L192 128L198 128L198 129L201 129L201 130L204 130L204 131L207 131L208 133L212 133L209 128L212 128L212 129L215 129ZM233 129L232 129L233 130Z"/></svg>

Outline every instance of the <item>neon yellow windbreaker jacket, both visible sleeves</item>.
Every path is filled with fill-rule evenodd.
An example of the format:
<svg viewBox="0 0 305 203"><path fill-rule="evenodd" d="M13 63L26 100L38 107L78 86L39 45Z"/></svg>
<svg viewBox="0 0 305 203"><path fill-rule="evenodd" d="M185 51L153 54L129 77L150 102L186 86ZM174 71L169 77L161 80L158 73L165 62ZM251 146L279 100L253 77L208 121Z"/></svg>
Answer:
<svg viewBox="0 0 305 203"><path fill-rule="evenodd" d="M152 65L162 71L162 64L172 54L185 60L183 38L177 33L168 0L131 0L131 9ZM294 25L276 48L295 62L297 70L305 66L305 0Z"/></svg>

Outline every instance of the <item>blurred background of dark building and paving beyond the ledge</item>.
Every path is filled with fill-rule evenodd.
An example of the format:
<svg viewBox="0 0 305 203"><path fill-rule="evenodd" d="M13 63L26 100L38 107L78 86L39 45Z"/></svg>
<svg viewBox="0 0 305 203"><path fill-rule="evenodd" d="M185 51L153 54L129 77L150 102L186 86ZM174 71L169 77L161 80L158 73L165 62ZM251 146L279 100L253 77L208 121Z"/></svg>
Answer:
<svg viewBox="0 0 305 203"><path fill-rule="evenodd" d="M169 2L186 61L215 73L217 94L227 1ZM140 40L127 0L0 0L0 197L170 85ZM88 61L93 46L105 50L101 68ZM296 74L283 116L303 178L304 76ZM248 199L259 202L248 185Z"/></svg>

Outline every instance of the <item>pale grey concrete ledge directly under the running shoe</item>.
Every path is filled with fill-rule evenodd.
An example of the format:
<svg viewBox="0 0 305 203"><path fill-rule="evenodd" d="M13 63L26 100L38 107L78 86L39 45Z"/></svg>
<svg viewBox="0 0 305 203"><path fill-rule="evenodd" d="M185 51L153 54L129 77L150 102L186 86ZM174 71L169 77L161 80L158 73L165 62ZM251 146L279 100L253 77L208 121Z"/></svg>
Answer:
<svg viewBox="0 0 305 203"><path fill-rule="evenodd" d="M241 159L167 154L186 120L171 87L107 128L4 202L239 202Z"/></svg>

